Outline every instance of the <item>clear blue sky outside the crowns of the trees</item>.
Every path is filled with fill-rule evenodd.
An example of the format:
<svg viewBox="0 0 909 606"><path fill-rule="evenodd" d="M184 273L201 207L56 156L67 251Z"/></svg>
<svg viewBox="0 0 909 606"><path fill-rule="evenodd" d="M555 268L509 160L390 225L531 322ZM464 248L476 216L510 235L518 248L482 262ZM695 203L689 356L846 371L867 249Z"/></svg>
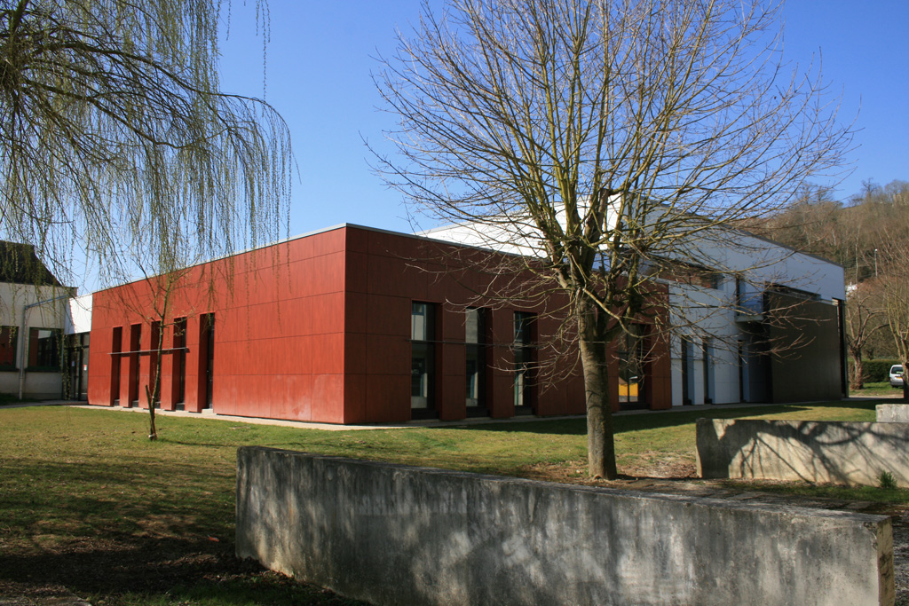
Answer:
<svg viewBox="0 0 909 606"><path fill-rule="evenodd" d="M371 172L363 139L381 144L382 131L394 124L393 115L377 110L370 73L378 68L376 54L394 50L395 28L418 19L419 0L269 6L265 98L285 117L300 167L290 233L341 223L411 230L401 195ZM824 81L842 95L841 119L858 129L853 173L838 196L858 193L867 179L909 180L909 2L793 0L783 16L784 55L800 65L822 59ZM255 29L252 6L234 0L222 45L227 92L263 94L263 43Z"/></svg>

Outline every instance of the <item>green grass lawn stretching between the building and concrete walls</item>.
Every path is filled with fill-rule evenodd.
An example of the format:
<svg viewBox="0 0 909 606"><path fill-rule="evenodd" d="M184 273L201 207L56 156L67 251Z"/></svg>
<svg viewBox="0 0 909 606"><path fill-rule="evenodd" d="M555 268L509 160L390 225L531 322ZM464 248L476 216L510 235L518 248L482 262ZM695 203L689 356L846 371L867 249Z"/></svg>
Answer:
<svg viewBox="0 0 909 606"><path fill-rule="evenodd" d="M874 403L616 416L620 471L693 469L703 416L873 421ZM235 559L235 452L245 444L588 482L583 419L323 432L159 416L157 442L146 422L135 412L0 409L0 596L64 586L96 606L355 603ZM864 490L855 498L909 502L906 491Z"/></svg>

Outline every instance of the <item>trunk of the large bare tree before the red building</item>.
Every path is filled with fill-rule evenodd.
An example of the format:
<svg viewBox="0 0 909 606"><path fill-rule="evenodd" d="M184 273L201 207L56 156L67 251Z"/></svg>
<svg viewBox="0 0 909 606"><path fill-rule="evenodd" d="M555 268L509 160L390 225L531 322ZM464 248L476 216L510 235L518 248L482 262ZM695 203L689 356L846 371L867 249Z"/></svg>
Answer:
<svg viewBox="0 0 909 606"><path fill-rule="evenodd" d="M609 375L606 367L606 340L602 322L592 303L580 303L578 315L581 365L584 369L584 396L587 405L587 466L594 478L614 480L613 410L609 398Z"/></svg>

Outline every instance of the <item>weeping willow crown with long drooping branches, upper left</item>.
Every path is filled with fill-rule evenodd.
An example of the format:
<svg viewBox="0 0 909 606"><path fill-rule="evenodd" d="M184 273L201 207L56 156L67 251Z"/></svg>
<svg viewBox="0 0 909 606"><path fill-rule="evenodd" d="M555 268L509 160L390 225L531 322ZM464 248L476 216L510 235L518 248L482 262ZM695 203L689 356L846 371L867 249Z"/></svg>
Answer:
<svg viewBox="0 0 909 606"><path fill-rule="evenodd" d="M0 0L3 237L58 276L85 253L115 281L124 247L179 237L210 257L285 231L290 137L265 102L220 91L223 8ZM166 272L181 255L157 256Z"/></svg>

